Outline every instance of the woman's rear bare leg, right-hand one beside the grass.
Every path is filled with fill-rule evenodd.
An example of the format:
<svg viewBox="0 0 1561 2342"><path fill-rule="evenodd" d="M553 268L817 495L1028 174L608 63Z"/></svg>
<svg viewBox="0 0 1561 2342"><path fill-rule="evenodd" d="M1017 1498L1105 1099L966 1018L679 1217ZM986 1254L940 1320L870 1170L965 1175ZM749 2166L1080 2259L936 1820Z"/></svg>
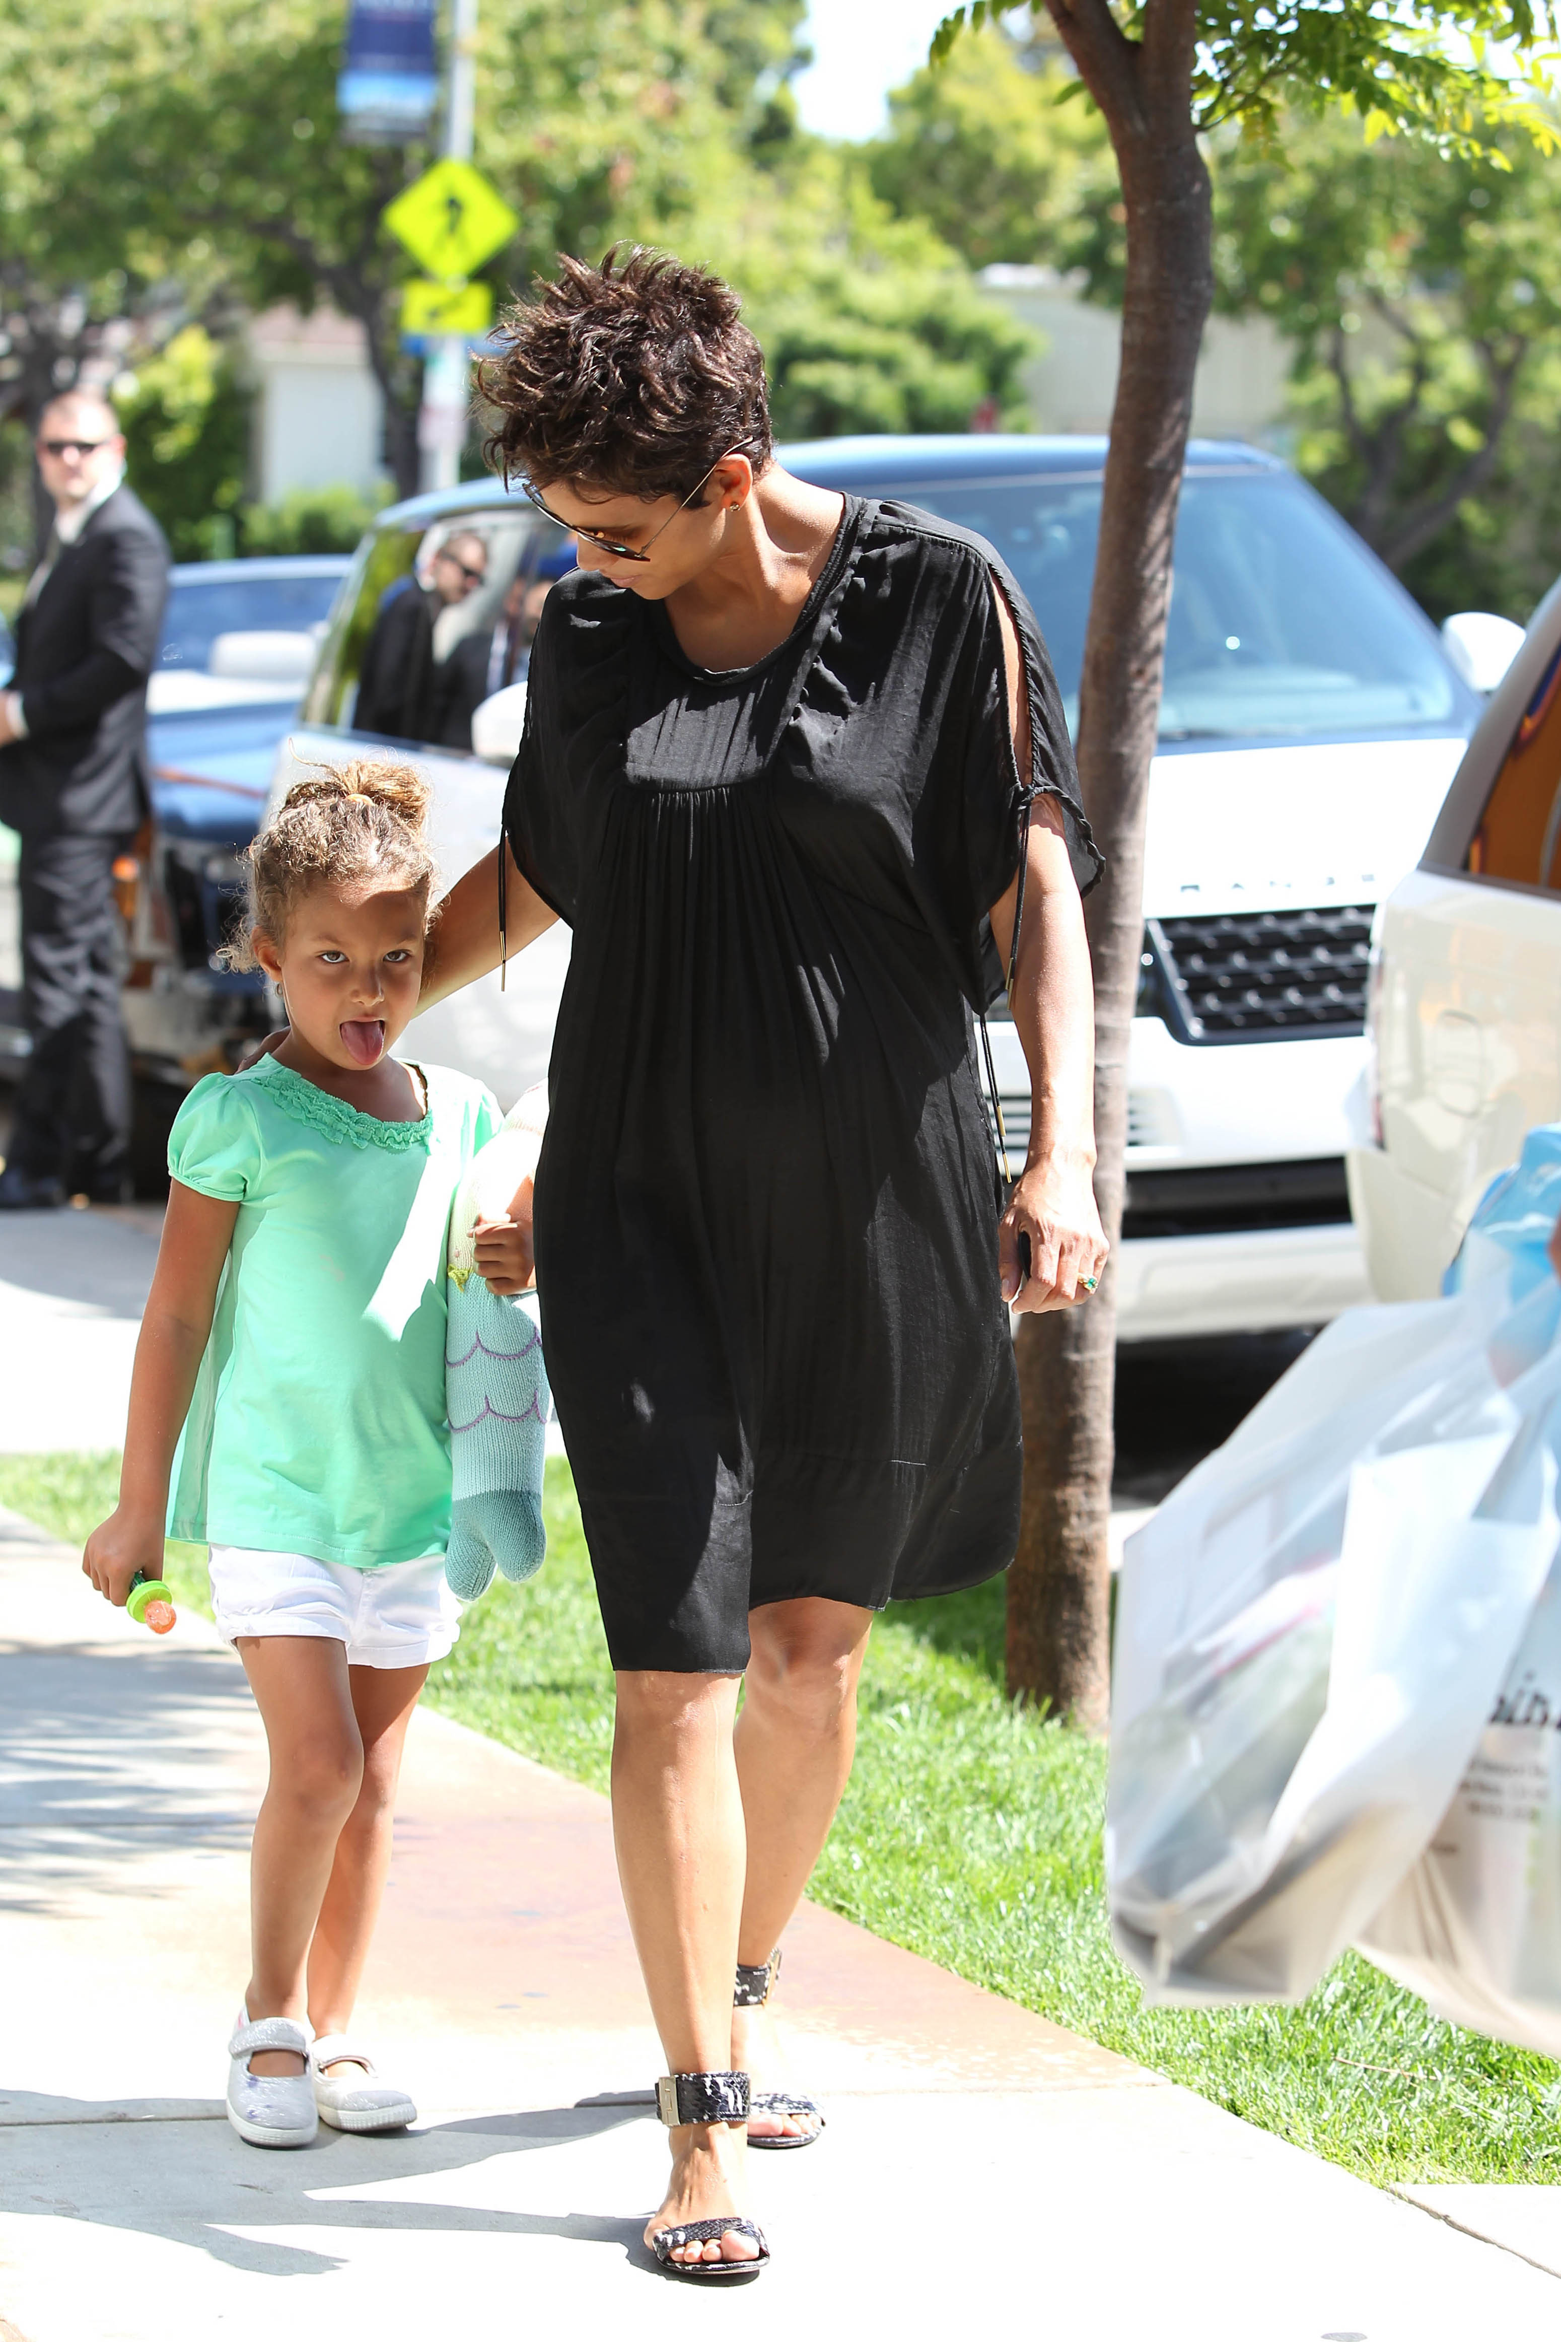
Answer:
<svg viewBox="0 0 1561 2342"><path fill-rule="evenodd" d="M749 1867L737 1958L763 1967L824 1853L857 1752L857 1679L873 1611L852 1602L765 1602L749 1614L749 1660L737 1719L737 1780ZM754 2089L782 2087L775 2002L733 2009L733 2066ZM756 2115L754 2138L796 2138L803 2115Z"/></svg>

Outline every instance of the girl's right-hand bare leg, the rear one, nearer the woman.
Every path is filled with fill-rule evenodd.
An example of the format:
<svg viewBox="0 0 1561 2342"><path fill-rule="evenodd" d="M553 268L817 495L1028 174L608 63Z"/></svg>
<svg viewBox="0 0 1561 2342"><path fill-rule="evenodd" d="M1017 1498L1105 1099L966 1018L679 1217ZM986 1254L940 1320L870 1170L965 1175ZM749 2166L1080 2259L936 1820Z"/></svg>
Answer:
<svg viewBox="0 0 1561 2342"><path fill-rule="evenodd" d="M396 1787L407 1724L428 1679L426 1668L349 1668L353 1717L363 1740L363 1787L337 1838L330 1883L309 1949L309 2023L346 2033L358 2002L363 1963L374 1939L396 1834Z"/></svg>

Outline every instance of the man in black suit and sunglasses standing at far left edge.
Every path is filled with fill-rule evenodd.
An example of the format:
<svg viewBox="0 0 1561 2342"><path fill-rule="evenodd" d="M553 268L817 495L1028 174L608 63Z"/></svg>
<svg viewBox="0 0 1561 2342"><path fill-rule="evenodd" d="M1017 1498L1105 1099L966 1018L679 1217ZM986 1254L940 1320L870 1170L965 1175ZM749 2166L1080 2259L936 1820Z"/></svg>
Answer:
<svg viewBox="0 0 1561 2342"><path fill-rule="evenodd" d="M131 1068L119 1021L112 867L147 808L145 712L169 546L124 487L124 438L96 391L37 424L54 499L0 693L0 822L21 834L21 963L33 1054L0 1208L129 1194Z"/></svg>

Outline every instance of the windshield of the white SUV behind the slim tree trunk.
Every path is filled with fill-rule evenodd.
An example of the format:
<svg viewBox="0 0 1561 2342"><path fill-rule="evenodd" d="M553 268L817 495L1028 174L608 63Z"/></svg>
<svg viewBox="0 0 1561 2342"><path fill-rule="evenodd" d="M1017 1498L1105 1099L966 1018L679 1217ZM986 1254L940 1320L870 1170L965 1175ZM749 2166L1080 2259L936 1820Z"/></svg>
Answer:
<svg viewBox="0 0 1561 2342"><path fill-rule="evenodd" d="M894 494L894 489L887 489ZM1025 588L1079 728L1100 480L915 487ZM1435 635L1327 506L1285 473L1182 485L1161 740L1318 740L1465 728Z"/></svg>

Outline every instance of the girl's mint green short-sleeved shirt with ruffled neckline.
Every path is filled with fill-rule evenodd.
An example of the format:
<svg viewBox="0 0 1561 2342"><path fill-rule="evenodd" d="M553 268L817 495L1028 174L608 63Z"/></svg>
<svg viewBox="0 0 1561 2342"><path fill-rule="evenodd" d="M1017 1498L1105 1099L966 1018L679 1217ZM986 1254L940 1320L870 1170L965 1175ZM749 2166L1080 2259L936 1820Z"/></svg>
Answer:
<svg viewBox="0 0 1561 2342"><path fill-rule="evenodd" d="M356 1569L445 1550L445 1241L501 1115L461 1073L424 1080L421 1122L360 1115L274 1056L180 1105L171 1176L239 1220L169 1536Z"/></svg>

